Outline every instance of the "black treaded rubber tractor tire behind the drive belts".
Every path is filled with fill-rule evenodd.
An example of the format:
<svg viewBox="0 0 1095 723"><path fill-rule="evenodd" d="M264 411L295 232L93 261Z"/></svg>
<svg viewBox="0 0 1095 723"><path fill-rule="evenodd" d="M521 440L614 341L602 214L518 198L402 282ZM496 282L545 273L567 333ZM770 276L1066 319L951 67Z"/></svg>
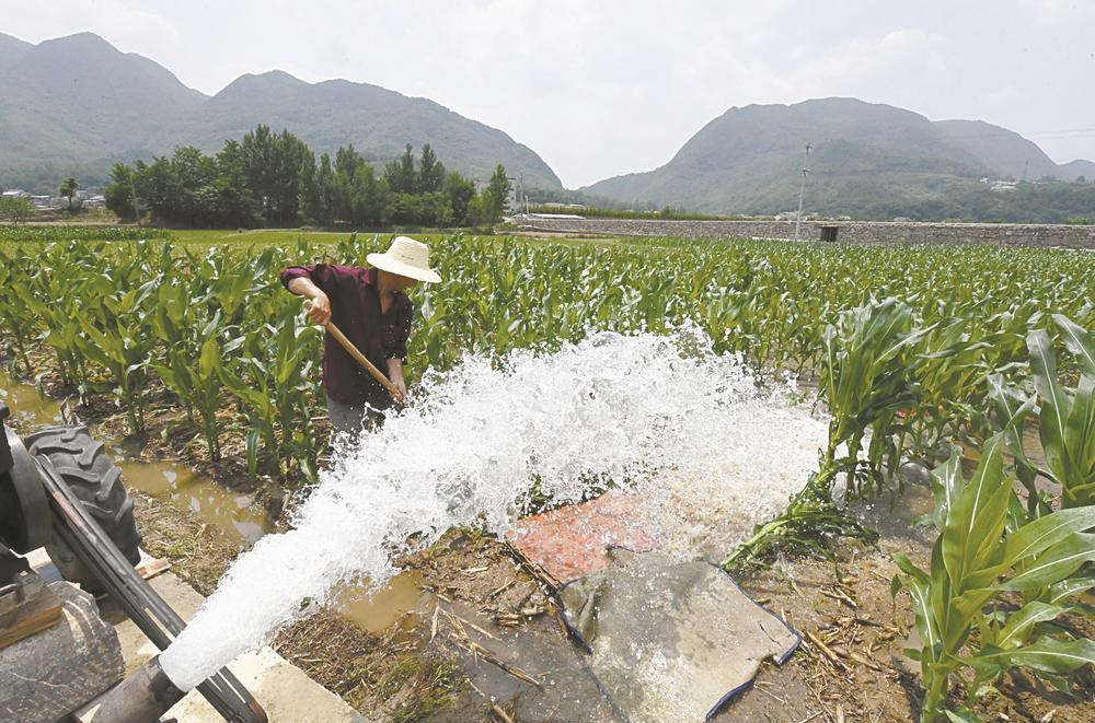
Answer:
<svg viewBox="0 0 1095 723"><path fill-rule="evenodd" d="M122 485L122 469L107 456L105 445L92 439L82 424L50 427L24 438L24 443L32 456L43 455L53 464L122 555L135 565L140 562L134 501ZM102 584L68 545L54 538L46 551L66 580L89 592L102 592Z"/></svg>

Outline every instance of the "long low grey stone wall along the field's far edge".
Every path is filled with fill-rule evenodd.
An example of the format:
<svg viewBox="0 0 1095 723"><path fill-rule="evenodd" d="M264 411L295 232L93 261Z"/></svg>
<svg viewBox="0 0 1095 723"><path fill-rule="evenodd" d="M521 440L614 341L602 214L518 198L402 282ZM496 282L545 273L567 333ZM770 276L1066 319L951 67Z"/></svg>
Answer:
<svg viewBox="0 0 1095 723"><path fill-rule="evenodd" d="M612 234L620 236L680 236L684 238L795 237L794 221L633 221L616 219L514 220L522 231ZM803 241L818 241L821 226L839 228L838 241L865 244L998 244L1095 249L1095 225L1027 223L914 223L878 221L804 221Z"/></svg>

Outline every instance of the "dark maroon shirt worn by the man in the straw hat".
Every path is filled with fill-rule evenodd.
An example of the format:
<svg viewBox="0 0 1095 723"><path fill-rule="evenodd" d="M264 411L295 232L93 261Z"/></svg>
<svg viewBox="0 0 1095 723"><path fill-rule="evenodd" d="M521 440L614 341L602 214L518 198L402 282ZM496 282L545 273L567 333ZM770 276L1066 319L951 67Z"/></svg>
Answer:
<svg viewBox="0 0 1095 723"><path fill-rule="evenodd" d="M405 293L395 294L387 313L380 311L377 269L361 266L290 266L281 271L286 288L293 279L308 278L331 300L331 320L381 373L388 360L406 359L414 307ZM365 371L342 345L324 334L323 389L335 401L387 409L392 404L388 390Z"/></svg>

